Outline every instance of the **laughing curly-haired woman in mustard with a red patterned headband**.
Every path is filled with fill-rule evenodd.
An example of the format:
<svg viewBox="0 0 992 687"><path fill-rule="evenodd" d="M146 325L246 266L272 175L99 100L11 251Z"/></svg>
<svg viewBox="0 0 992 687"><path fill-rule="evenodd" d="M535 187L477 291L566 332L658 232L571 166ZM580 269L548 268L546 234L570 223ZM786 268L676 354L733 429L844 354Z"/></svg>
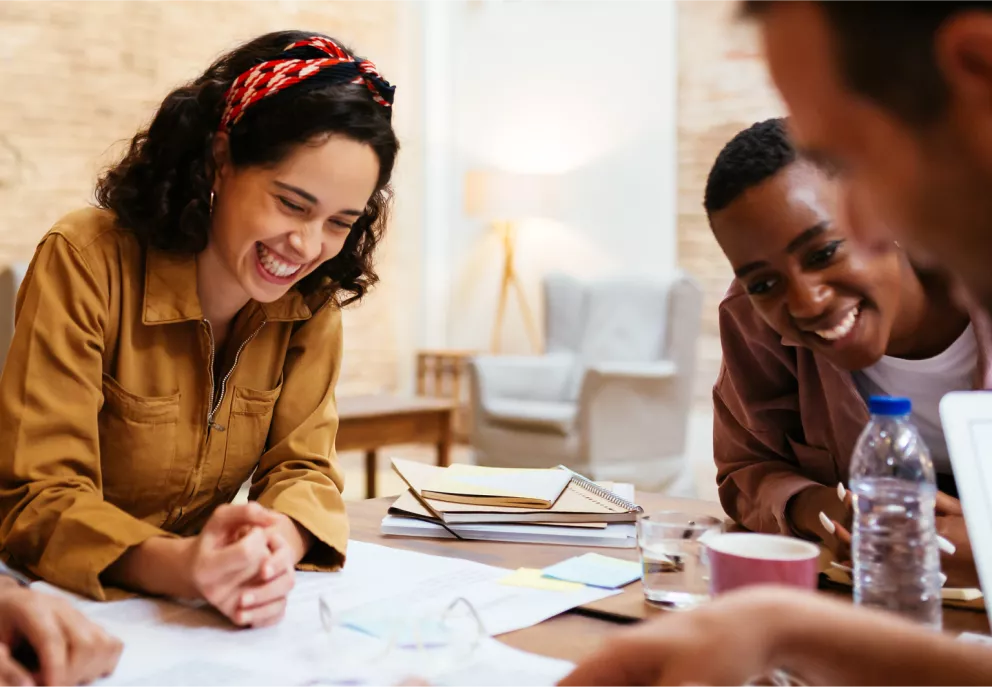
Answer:
<svg viewBox="0 0 992 687"><path fill-rule="evenodd" d="M332 39L262 36L170 93L99 207L46 235L0 381L6 557L253 626L297 564L343 563L340 306L376 281L392 102Z"/></svg>

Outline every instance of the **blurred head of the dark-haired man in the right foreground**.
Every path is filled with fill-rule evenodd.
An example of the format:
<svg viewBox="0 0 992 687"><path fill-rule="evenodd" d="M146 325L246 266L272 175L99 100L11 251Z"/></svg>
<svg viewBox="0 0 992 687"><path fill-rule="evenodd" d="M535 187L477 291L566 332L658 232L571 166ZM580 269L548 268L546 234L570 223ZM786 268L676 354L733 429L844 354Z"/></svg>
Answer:
<svg viewBox="0 0 992 687"><path fill-rule="evenodd" d="M880 220L865 240L899 239L992 310L992 1L742 6L796 144Z"/></svg>

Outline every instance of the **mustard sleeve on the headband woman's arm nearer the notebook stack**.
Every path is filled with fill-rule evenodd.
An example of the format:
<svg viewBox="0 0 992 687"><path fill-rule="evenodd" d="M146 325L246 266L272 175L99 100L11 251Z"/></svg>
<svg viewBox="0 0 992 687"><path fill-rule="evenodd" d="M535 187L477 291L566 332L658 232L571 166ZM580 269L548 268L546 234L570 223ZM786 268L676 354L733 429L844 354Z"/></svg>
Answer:
<svg viewBox="0 0 992 687"><path fill-rule="evenodd" d="M340 567L348 544L341 496L344 479L334 450L338 431L334 389L341 355L341 311L328 303L290 338L268 448L249 494L314 536L313 547L300 563L302 569Z"/></svg>

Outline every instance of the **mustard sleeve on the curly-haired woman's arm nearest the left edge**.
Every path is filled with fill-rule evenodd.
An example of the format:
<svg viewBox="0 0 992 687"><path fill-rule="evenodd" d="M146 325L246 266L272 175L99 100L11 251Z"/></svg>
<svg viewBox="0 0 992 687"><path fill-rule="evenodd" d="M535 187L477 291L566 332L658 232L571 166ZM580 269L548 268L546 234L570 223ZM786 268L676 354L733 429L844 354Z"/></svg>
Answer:
<svg viewBox="0 0 992 687"><path fill-rule="evenodd" d="M0 377L0 542L48 582L106 599L104 570L130 547L172 535L103 499L106 298L57 232L35 253L15 318Z"/></svg>

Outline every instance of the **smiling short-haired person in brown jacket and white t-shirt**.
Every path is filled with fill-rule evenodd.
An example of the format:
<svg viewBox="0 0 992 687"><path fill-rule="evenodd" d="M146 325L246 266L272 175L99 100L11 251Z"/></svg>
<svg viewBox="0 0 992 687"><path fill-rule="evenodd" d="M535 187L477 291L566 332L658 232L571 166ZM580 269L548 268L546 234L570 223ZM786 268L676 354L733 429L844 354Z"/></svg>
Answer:
<svg viewBox="0 0 992 687"><path fill-rule="evenodd" d="M849 522L837 484L868 421L865 399L913 400L940 486L956 495L938 404L992 382L992 342L979 340L983 328L952 302L947 281L893 243L849 240L840 200L835 181L793 149L782 120L727 144L705 199L736 276L720 305L714 388L721 501L749 529L837 550L820 512Z"/></svg>

